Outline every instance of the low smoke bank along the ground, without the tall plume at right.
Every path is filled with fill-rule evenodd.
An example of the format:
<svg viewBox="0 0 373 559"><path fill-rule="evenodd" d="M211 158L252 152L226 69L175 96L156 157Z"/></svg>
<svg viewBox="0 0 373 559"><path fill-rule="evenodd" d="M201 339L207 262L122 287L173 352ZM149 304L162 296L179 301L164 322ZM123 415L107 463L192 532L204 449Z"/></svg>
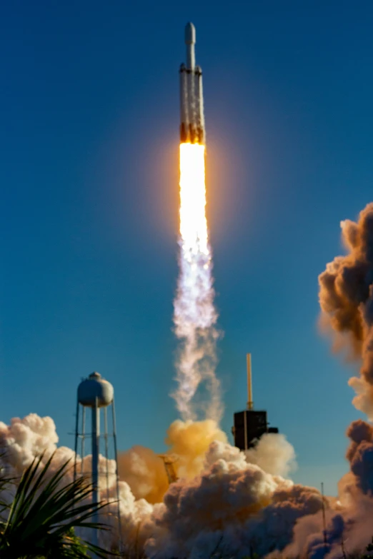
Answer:
<svg viewBox="0 0 373 559"><path fill-rule="evenodd" d="M347 435L350 471L339 484L339 498L324 500L325 546L319 491L279 475L294 464L294 450L283 436L268 435L245 454L229 445L211 420L176 421L166 439L169 452L177 458L180 479L176 483L166 486L161 460L149 449L136 447L121 455L119 508L126 552L145 551L150 559L197 559L214 553L238 559L254 553L277 558L280 552L289 559L337 558L342 555L342 540L347 554L361 551L373 533L373 427L355 421ZM51 418L32 413L12 420L11 425L0 423L0 468L20 475L41 453L46 453L45 458L55 453L54 468L74 458L72 450L58 448L57 443ZM86 472L89 460L84 461ZM79 457L77 463L79 470ZM105 465L101 457L102 470ZM110 549L119 545L119 525L114 463L109 461L108 466L109 490L104 475L100 488L109 507L102 511L101 520L112 530L101 535L101 545ZM72 470L66 480L71 476ZM6 496L10 499L11 493ZM89 538L88 531L81 535Z"/></svg>

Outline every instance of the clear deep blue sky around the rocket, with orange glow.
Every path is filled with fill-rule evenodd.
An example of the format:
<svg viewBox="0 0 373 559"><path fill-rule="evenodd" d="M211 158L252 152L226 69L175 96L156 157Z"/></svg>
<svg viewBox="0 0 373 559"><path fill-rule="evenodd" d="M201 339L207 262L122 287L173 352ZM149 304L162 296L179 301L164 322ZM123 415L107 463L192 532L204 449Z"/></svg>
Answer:
<svg viewBox="0 0 373 559"><path fill-rule="evenodd" d="M317 333L339 221L373 200L371 0L11 1L1 9L1 414L72 445L76 386L115 387L119 448L163 448L184 25L204 70L223 426L254 402L335 493L359 414Z"/></svg>

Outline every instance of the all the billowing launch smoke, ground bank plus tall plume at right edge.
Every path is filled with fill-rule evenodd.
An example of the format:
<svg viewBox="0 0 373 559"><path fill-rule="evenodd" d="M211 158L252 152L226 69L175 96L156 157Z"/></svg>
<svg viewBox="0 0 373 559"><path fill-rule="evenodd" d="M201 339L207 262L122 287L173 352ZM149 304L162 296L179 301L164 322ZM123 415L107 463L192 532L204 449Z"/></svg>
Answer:
<svg viewBox="0 0 373 559"><path fill-rule="evenodd" d="M347 255L337 257L319 277L324 324L337 348L361 359L355 405L372 417L372 245L373 205L357 223L344 221ZM294 449L284 435L267 434L256 448L242 453L228 443L216 420L176 420L166 433L168 452L176 458L179 480L169 485L154 450L135 446L119 460L119 506L122 537L129 557L149 559L342 558L364 549L373 535L373 427L357 420L347 430L349 471L339 481L338 498L325 498L324 543L322 495L294 484ZM54 465L74 458L58 447L54 421L31 413L0 423L0 468L19 475L36 455L56 452ZM80 458L78 457L78 460ZM90 458L85 458L84 470ZM103 462L105 459L101 457ZM111 486L102 498L109 508L102 521L113 530L102 545L118 544L114 463ZM67 476L69 477L69 476ZM104 481L106 483L106 480ZM4 495L9 500L11 493ZM88 535L88 534L86 534ZM342 550L342 541L344 550Z"/></svg>

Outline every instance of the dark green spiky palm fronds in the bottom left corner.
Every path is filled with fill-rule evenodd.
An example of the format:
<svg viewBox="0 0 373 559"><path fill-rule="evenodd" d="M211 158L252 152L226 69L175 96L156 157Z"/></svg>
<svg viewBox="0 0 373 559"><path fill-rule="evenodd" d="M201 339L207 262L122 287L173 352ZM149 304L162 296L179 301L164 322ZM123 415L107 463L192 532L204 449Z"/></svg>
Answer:
<svg viewBox="0 0 373 559"><path fill-rule="evenodd" d="M74 528L105 529L90 520L105 505L91 503L92 486L83 478L63 484L69 461L48 475L53 455L45 465L42 458L24 471L8 518L0 523L1 559L84 559L89 552L106 558L105 550L74 533ZM4 483L9 480L0 479L0 490Z"/></svg>

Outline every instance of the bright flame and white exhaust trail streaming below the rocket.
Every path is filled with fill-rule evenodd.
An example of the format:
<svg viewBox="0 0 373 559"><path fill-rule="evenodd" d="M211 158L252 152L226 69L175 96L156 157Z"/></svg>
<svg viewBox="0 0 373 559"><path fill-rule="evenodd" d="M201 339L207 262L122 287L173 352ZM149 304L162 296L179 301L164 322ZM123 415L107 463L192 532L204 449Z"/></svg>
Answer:
<svg viewBox="0 0 373 559"><path fill-rule="evenodd" d="M222 416L220 383L215 376L216 344L212 253L206 219L206 186L202 144L180 145L180 255L179 279L174 300L174 325L180 340L176 363L178 386L172 394L184 420L197 418L193 398L206 383L207 418Z"/></svg>

